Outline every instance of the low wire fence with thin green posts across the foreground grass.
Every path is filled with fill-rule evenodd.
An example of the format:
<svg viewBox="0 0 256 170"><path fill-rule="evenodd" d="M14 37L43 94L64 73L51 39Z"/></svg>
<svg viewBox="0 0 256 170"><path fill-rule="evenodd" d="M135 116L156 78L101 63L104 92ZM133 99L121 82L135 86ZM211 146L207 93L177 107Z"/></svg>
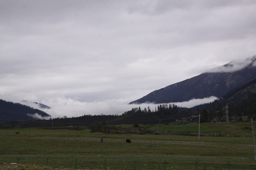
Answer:
<svg viewBox="0 0 256 170"><path fill-rule="evenodd" d="M115 157L85 155L0 155L0 162L46 167L107 170L255 170L256 161L238 158Z"/></svg>

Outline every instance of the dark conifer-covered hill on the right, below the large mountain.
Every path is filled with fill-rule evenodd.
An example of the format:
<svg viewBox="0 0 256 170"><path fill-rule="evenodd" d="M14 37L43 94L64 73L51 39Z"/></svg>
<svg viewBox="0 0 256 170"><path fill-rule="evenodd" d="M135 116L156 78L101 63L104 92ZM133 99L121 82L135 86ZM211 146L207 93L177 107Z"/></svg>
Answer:
<svg viewBox="0 0 256 170"><path fill-rule="evenodd" d="M159 104L156 108L134 108L126 111L116 122L119 123L170 123L173 121L198 121L201 114L202 122L226 121L226 105L229 120L241 121L241 116L256 119L256 79L244 84L214 102L201 104L193 108L180 108L174 104Z"/></svg>

